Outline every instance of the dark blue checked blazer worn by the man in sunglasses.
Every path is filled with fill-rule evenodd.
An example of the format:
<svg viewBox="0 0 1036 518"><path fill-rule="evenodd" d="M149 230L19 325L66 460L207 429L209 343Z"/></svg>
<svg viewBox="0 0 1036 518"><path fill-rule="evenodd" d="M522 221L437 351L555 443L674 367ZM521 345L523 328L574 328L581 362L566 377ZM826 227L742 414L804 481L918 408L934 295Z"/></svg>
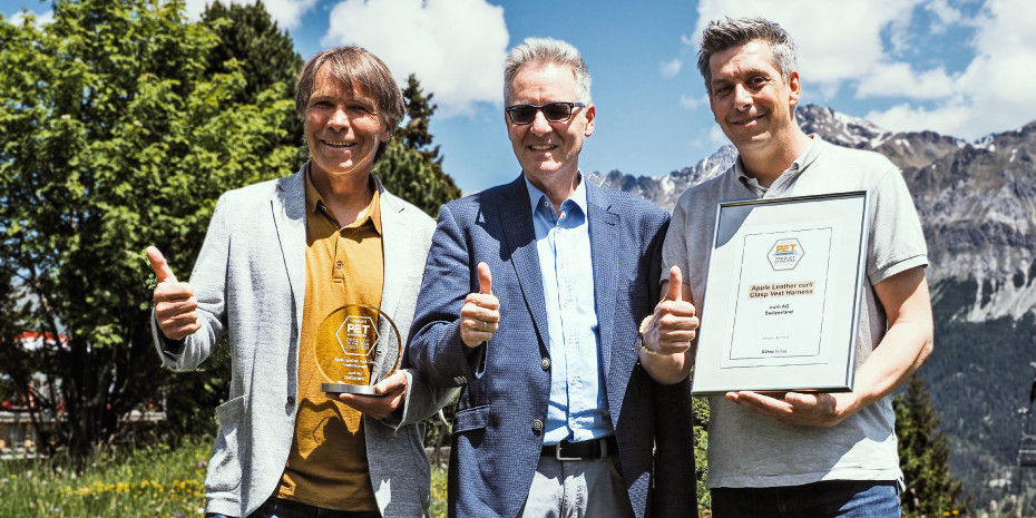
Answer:
<svg viewBox="0 0 1036 518"><path fill-rule="evenodd" d="M690 382L655 383L637 362L637 328L659 299L670 216L587 183L602 369L618 456L637 517L696 516ZM500 325L475 351L460 307L489 264ZM547 312L525 180L444 205L417 301L409 354L439 387L462 387L453 419L451 517L514 517L532 483L547 421Z"/></svg>

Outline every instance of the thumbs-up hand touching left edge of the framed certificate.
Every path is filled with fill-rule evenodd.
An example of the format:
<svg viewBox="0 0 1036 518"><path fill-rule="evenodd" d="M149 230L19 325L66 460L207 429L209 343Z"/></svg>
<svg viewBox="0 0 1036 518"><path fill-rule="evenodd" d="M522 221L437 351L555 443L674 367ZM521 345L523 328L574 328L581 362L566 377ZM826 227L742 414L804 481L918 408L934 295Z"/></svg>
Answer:
<svg viewBox="0 0 1036 518"><path fill-rule="evenodd" d="M681 354L691 349L698 320L694 304L687 300L690 287L683 283L680 266L670 268L670 280L664 290L665 296L655 305L655 312L641 324L643 345L648 354Z"/></svg>

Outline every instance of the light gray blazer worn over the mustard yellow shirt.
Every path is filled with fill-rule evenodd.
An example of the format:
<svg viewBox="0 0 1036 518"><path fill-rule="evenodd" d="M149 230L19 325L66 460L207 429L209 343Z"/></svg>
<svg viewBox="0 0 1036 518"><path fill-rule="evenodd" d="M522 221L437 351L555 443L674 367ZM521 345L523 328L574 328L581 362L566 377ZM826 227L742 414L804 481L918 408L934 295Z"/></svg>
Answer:
<svg viewBox="0 0 1036 518"><path fill-rule="evenodd" d="M224 333L229 335L229 399L216 409L219 433L205 479L206 512L247 516L277 487L295 429L299 340L305 294L305 166L285 178L225 193L216 204L190 284L198 300L202 329L183 350L152 328L163 365L198 366ZM377 178L375 178L377 180ZM381 193L384 287L381 311L407 343L424 258L434 222L420 209ZM379 322L380 332L389 332ZM381 380L395 361L385 351L372 380ZM366 416L363 426L371 482L381 512L426 516L429 466L419 424L452 395L433 390L409 369L401 370L408 391L401 411L387 421Z"/></svg>

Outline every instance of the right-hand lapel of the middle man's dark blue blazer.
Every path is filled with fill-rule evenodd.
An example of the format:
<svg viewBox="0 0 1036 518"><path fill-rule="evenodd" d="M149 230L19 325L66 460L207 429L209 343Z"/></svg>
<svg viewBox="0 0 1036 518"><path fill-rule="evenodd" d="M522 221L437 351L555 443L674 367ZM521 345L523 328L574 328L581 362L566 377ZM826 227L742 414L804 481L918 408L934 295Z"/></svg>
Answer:
<svg viewBox="0 0 1036 518"><path fill-rule="evenodd" d="M586 179L584 178L584 182ZM615 320L615 276L618 271L619 214L612 212L605 193L586 182L587 218L590 225L590 256L594 263L594 293L597 305L597 330L600 333L600 365L606 375L612 363L612 335Z"/></svg>

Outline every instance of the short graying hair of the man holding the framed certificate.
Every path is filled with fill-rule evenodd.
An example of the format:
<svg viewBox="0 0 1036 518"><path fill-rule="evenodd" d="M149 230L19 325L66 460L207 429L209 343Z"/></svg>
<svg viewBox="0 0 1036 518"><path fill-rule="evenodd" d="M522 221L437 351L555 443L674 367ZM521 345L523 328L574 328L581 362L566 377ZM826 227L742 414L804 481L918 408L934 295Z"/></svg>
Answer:
<svg viewBox="0 0 1036 518"><path fill-rule="evenodd" d="M702 49L697 53L697 69L705 78L708 97L712 97L712 70L708 68L712 55L752 40L770 43L770 61L781 72L784 82L791 79L792 72L799 70L795 42L776 22L765 18L713 20L702 32Z"/></svg>

